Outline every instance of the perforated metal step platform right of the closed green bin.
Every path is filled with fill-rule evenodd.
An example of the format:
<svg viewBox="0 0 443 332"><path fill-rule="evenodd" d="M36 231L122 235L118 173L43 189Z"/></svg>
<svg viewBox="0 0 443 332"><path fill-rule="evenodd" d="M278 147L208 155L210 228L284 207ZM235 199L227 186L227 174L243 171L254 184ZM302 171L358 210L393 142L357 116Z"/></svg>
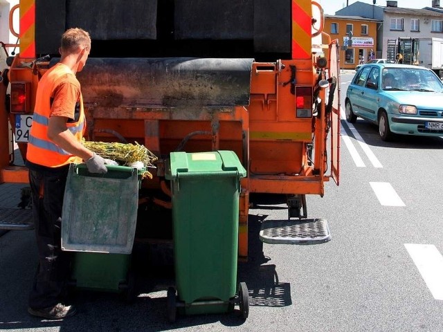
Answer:
<svg viewBox="0 0 443 332"><path fill-rule="evenodd" d="M318 244L331 239L326 219L262 222L260 240L271 244Z"/></svg>

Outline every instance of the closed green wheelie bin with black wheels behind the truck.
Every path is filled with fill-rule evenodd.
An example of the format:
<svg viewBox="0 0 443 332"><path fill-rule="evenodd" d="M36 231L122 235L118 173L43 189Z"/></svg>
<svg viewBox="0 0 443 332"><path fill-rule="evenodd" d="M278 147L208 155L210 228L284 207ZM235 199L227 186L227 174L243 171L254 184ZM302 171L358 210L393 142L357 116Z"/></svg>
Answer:
<svg viewBox="0 0 443 332"><path fill-rule="evenodd" d="M177 293L168 288L170 321L177 311L227 313L235 303L246 319L248 290L244 282L237 285L239 193L244 176L246 169L233 151L170 154L165 177L172 191L177 287Z"/></svg>

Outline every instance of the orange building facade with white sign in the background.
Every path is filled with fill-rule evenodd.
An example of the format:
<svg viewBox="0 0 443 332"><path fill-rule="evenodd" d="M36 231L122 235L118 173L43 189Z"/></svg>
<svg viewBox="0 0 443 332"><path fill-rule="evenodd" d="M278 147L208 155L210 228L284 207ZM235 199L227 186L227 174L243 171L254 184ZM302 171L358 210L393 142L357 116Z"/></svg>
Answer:
<svg viewBox="0 0 443 332"><path fill-rule="evenodd" d="M357 64L377 57L377 19L325 15L324 31L340 45L340 66L354 69ZM352 38L352 45L349 44Z"/></svg>

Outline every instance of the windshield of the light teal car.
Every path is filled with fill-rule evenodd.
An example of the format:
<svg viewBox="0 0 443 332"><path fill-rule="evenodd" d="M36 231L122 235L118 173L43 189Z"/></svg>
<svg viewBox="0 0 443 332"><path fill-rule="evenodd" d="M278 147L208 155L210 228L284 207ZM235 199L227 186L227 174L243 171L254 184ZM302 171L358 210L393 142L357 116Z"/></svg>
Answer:
<svg viewBox="0 0 443 332"><path fill-rule="evenodd" d="M443 92L443 83L426 68L383 68L382 89L397 91Z"/></svg>

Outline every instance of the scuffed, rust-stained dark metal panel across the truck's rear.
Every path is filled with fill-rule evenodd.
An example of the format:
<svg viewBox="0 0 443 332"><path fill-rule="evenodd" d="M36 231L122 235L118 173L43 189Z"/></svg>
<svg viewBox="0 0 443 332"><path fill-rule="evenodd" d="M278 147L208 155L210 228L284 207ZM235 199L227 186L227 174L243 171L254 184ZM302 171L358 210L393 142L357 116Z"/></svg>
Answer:
<svg viewBox="0 0 443 332"><path fill-rule="evenodd" d="M77 76L84 102L98 109L247 106L252 63L253 59L89 58Z"/></svg>

